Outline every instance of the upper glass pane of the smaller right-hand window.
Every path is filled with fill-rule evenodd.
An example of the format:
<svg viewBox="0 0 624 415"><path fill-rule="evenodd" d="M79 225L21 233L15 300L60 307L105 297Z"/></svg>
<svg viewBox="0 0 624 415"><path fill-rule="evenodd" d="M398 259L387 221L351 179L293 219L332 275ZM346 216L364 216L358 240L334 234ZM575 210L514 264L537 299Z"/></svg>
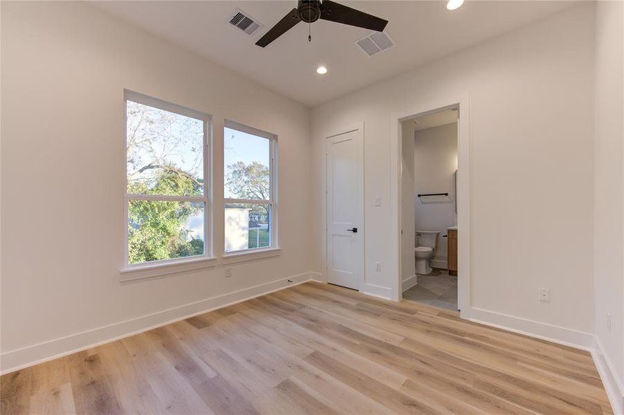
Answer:
<svg viewBox="0 0 624 415"><path fill-rule="evenodd" d="M270 199L270 140L223 129L226 199Z"/></svg>

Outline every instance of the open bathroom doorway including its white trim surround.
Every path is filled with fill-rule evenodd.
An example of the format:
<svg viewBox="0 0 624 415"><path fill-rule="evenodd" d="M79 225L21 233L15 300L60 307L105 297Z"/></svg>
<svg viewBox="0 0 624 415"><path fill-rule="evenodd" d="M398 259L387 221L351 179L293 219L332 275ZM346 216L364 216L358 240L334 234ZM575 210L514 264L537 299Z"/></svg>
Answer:
<svg viewBox="0 0 624 415"><path fill-rule="evenodd" d="M468 122L460 117L468 111L461 102L393 116L396 297L468 317Z"/></svg>

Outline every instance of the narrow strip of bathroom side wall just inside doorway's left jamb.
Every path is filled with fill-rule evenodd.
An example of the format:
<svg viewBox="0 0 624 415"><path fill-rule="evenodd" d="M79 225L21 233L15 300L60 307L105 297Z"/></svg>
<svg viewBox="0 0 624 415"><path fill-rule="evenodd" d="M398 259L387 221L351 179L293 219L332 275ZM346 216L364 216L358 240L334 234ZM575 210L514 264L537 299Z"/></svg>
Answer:
<svg viewBox="0 0 624 415"><path fill-rule="evenodd" d="M403 290L417 282L414 254L414 121L401 124L401 281Z"/></svg>

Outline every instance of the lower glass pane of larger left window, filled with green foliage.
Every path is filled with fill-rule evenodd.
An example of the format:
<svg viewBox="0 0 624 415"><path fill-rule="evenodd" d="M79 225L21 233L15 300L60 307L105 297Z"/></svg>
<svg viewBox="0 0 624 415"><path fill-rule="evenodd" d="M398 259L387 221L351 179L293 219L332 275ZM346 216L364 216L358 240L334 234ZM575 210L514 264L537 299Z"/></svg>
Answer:
<svg viewBox="0 0 624 415"><path fill-rule="evenodd" d="M203 202L129 201L129 264L203 255L204 210Z"/></svg>

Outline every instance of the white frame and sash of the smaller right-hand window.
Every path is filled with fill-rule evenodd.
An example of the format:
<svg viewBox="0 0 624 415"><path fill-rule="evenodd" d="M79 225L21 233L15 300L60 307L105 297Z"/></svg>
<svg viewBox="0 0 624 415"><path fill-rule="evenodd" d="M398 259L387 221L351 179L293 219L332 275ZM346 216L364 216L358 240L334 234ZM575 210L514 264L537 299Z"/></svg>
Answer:
<svg viewBox="0 0 624 415"><path fill-rule="evenodd" d="M232 120L224 120L223 128L235 129L237 131L241 131L243 133L248 133L253 136L258 136L262 138L268 139L269 142L269 199L260 200L260 199L223 199L223 212L221 214L225 214L226 204L228 203L241 203L241 204L255 204L255 205L265 205L267 202L270 206L270 246L265 246L262 248L248 248L242 249L232 252L224 252L223 253L223 264L230 264L232 262L237 261L247 261L249 259L260 259L270 256L279 255L279 239L278 239L278 203L277 203L277 134L269 133L268 131L263 131L261 129L257 129L254 127L249 127L248 125L241 124ZM225 134L223 134L223 142L225 144ZM225 160L226 149L225 145L223 145L223 160ZM225 181L226 181L226 166L223 164L223 192L225 193ZM225 228L223 228L223 239L225 240ZM225 246L224 246L225 248ZM243 258L245 257L245 258Z"/></svg>

